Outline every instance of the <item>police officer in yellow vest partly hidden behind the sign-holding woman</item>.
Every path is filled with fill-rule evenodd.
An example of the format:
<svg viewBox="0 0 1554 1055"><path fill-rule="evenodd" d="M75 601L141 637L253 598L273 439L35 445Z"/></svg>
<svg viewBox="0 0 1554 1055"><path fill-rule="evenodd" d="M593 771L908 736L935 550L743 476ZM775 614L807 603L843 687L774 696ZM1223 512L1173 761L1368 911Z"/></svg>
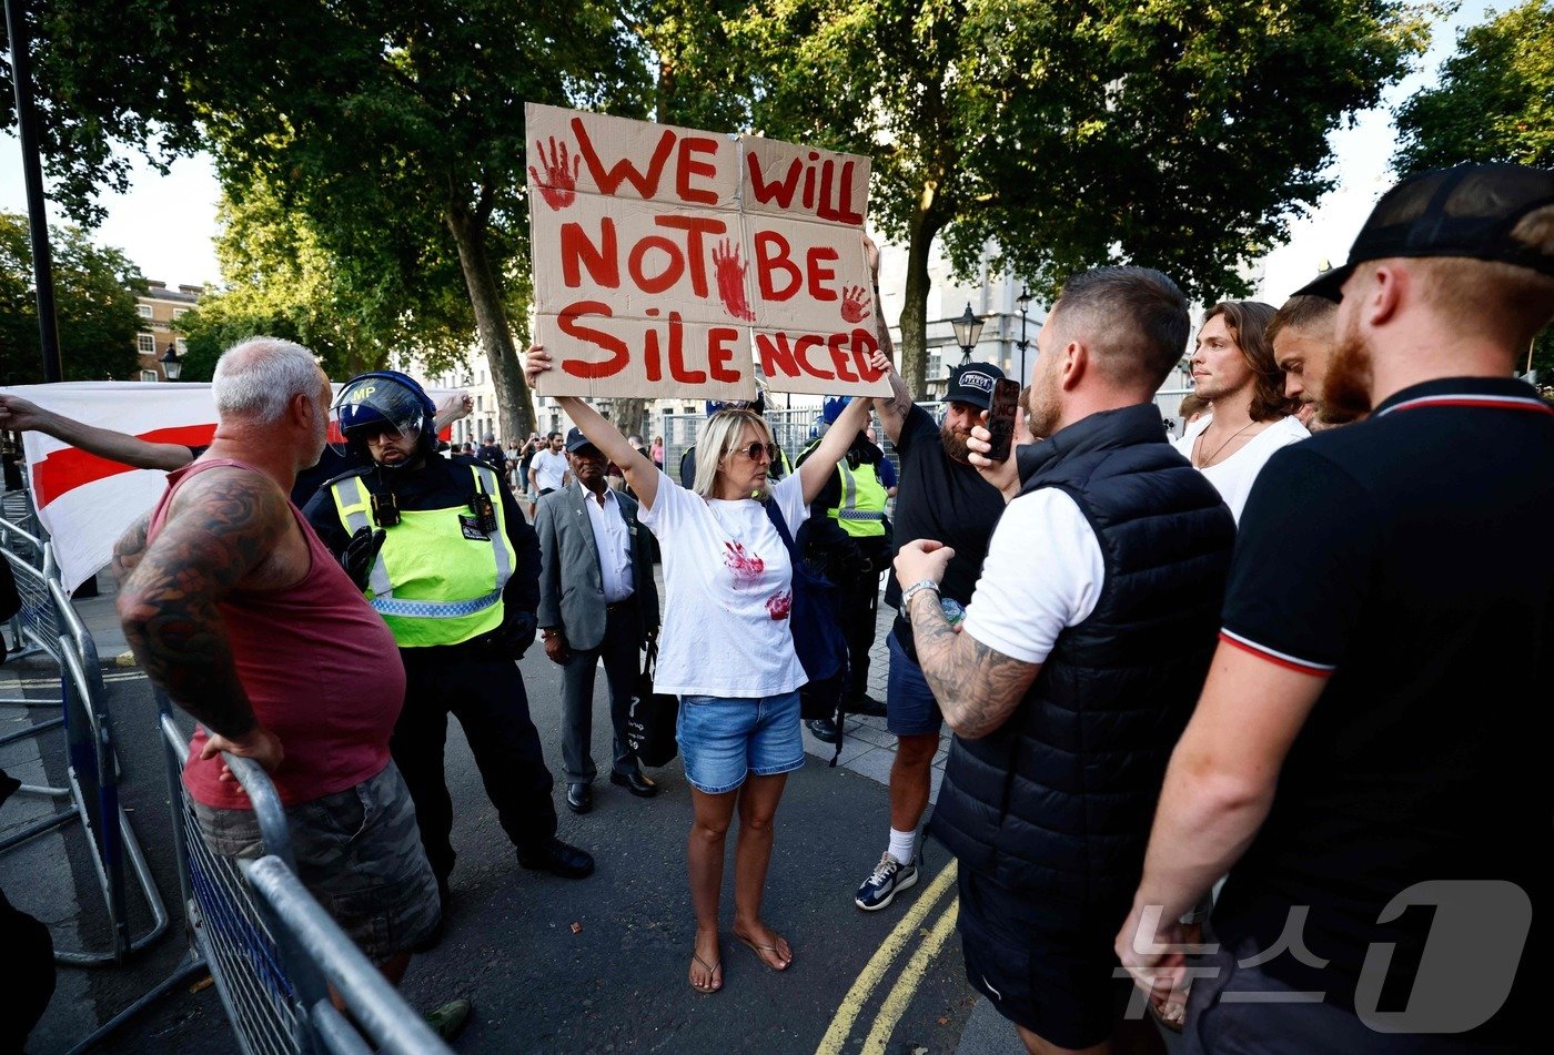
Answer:
<svg viewBox="0 0 1554 1055"><path fill-rule="evenodd" d="M827 396L822 423L830 427L847 402L845 396ZM813 440L799 455L797 465L803 465L819 444L819 438ZM880 611L880 572L890 561L889 521L884 513L889 496L876 469L883 458L884 452L859 432L847 457L836 463L836 472L810 507L813 516L824 514L834 521L862 553L856 575L838 583L842 587L842 628L847 632L850 671L844 701L855 715L884 715L884 704L869 695L869 649L873 648ZM817 719L810 722L810 730L822 740L834 741L834 726L828 726L828 721Z"/></svg>

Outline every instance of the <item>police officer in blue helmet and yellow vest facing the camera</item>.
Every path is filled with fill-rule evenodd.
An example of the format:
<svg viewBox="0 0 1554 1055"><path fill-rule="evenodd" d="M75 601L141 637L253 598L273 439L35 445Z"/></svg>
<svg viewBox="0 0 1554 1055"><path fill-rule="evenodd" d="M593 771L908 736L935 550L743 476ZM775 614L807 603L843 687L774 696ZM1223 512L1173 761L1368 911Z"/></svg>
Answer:
<svg viewBox="0 0 1554 1055"><path fill-rule="evenodd" d="M402 373L353 378L336 399L336 421L362 468L329 480L305 513L399 645L407 685L390 750L446 903L449 713L519 864L583 878L594 859L556 839L553 780L516 663L535 640L539 539L496 469L437 452L434 410Z"/></svg>

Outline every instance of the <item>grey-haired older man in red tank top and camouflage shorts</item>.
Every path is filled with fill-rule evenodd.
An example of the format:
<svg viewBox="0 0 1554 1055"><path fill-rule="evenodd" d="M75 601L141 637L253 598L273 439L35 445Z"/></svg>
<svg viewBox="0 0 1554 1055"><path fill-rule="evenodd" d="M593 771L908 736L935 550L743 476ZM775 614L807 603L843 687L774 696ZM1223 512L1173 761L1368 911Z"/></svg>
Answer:
<svg viewBox="0 0 1554 1055"><path fill-rule="evenodd" d="M437 881L388 758L404 668L388 628L286 494L319 460L329 381L301 345L218 362L210 449L115 547L118 612L152 682L199 719L183 786L213 851L264 853L221 752L269 771L298 878L398 982L437 926ZM429 1016L451 1036L454 1001Z"/></svg>

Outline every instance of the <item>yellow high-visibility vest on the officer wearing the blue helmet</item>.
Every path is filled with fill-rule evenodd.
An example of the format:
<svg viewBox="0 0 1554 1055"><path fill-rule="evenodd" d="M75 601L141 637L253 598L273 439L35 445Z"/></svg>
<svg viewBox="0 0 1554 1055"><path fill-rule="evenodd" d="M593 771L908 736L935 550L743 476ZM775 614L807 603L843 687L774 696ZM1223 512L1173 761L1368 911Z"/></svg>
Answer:
<svg viewBox="0 0 1554 1055"><path fill-rule="evenodd" d="M502 625L502 587L513 578L517 555L507 538L496 472L477 465L469 471L496 508L488 539L466 534L468 505L399 510L399 522L385 528L367 600L401 648L457 645ZM348 533L376 527L361 475L336 480L329 493Z"/></svg>

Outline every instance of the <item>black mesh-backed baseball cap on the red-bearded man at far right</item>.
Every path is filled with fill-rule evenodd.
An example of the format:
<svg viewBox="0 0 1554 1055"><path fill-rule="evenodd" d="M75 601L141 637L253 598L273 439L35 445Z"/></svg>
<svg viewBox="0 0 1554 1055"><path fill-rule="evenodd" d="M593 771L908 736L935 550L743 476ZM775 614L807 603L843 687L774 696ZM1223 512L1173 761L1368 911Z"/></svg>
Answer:
<svg viewBox="0 0 1554 1055"><path fill-rule="evenodd" d="M1526 165L1458 165L1406 179L1375 204L1349 263L1296 295L1343 298L1358 264L1394 256L1464 256L1554 275L1554 255L1510 236L1528 213L1554 205L1554 172Z"/></svg>

